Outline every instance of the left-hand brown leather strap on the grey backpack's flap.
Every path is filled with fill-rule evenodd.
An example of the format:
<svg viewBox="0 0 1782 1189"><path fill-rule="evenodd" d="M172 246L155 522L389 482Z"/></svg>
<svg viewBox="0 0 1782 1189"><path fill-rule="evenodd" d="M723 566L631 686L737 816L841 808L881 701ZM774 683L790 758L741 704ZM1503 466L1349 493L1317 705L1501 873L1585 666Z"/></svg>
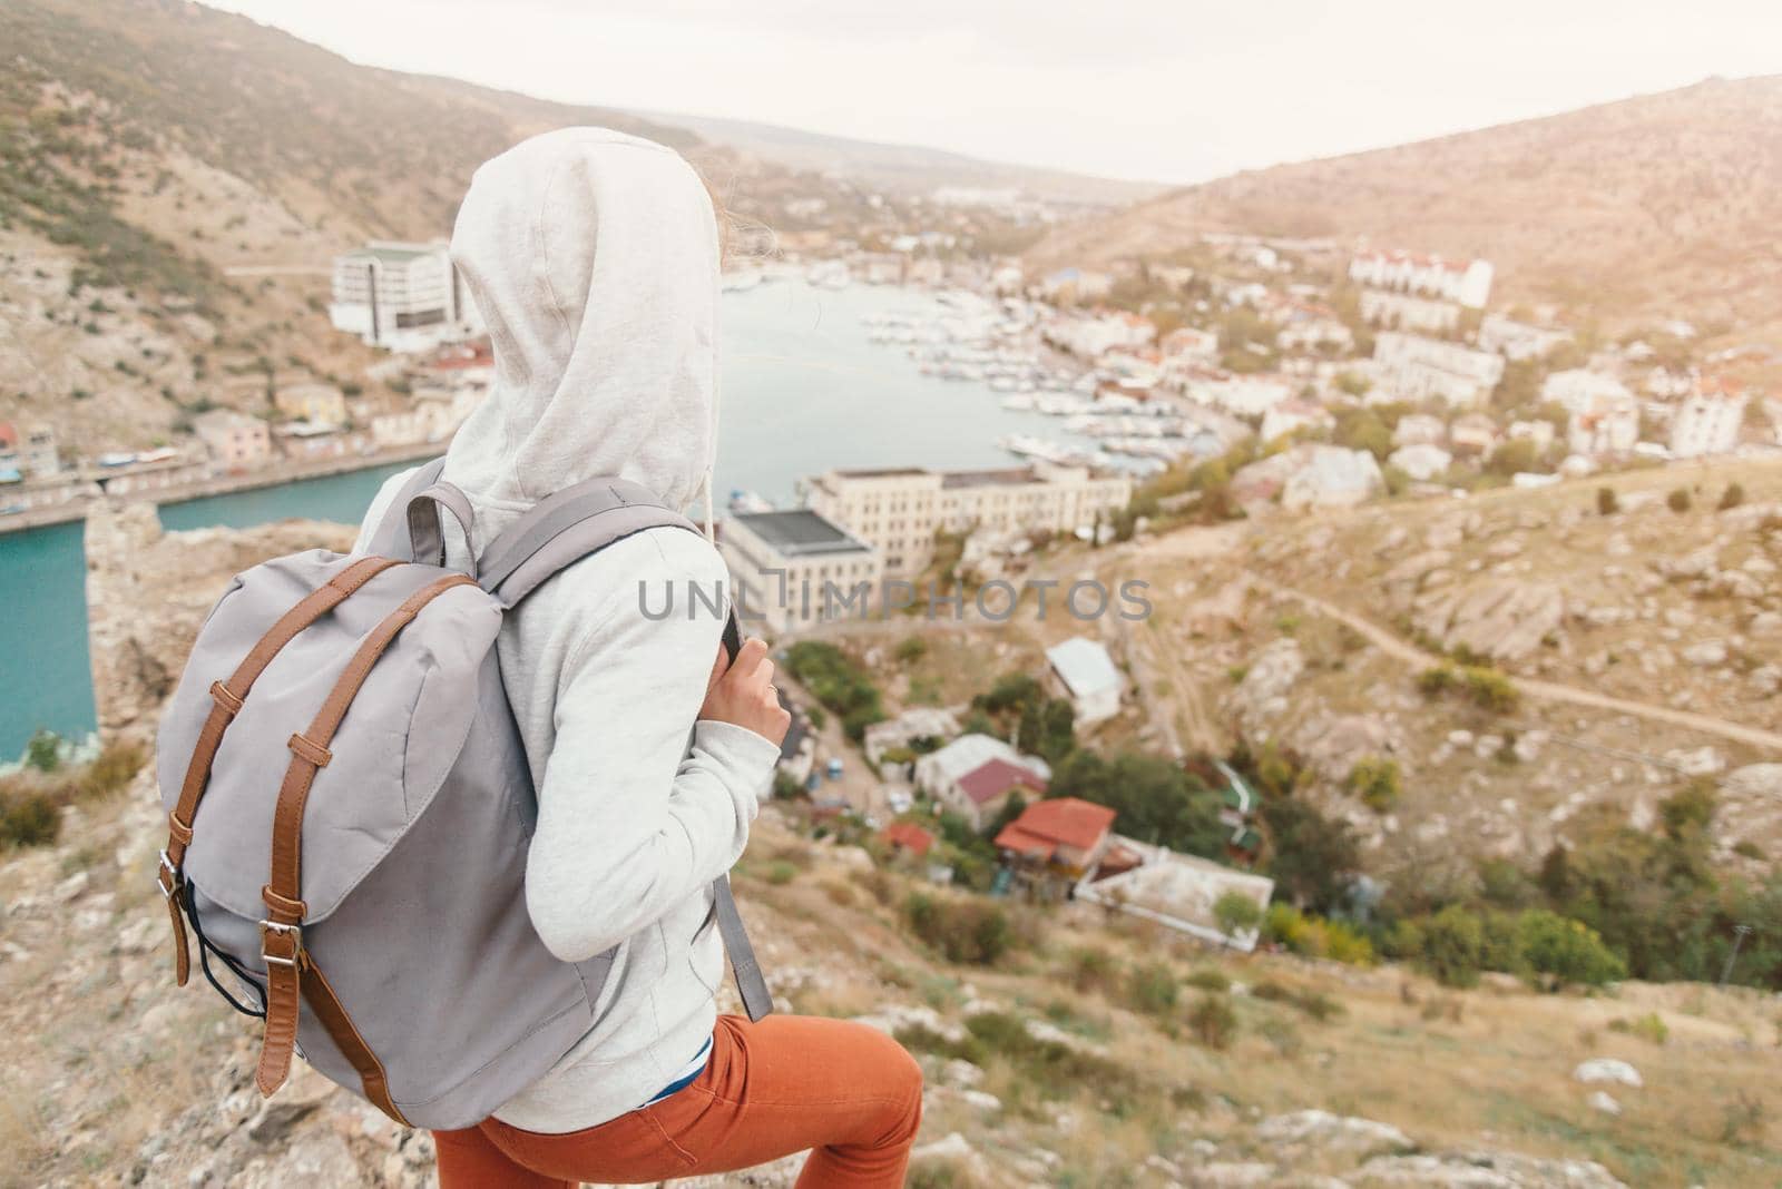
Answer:
<svg viewBox="0 0 1782 1189"><path fill-rule="evenodd" d="M273 657L285 644L296 639L303 628L339 607L365 582L399 564L394 557L364 557L353 562L280 616L278 623L235 666L226 682L210 683L210 701L214 705L203 728L198 732L198 746L192 749L192 760L185 767L185 783L180 785L180 799L168 815L168 849L160 856L160 870L155 876L157 883L160 883L160 894L168 901L169 918L173 920L173 977L180 986L185 986L192 970L185 942L185 918L180 913L180 897L185 883L185 847L192 842L192 817L198 813L198 803L210 783L210 765L216 762L217 748L223 746L223 733L235 716L241 714L248 691L253 689L266 666L273 662Z"/></svg>

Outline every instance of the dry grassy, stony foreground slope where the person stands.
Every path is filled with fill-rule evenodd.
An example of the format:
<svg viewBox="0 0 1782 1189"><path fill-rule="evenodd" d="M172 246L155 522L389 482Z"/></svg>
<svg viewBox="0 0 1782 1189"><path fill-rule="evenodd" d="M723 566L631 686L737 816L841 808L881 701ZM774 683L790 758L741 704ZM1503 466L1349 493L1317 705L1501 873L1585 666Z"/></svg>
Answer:
<svg viewBox="0 0 1782 1189"><path fill-rule="evenodd" d="M228 571L344 529L93 527L109 701L144 710ZM130 589L178 578L135 623ZM119 662L121 657L134 660ZM144 719L146 724L146 719ZM0 860L0 1182L424 1185L431 1145L299 1070L251 1088L253 1027L176 991L143 774L66 808L61 842ZM928 1075L914 1185L1771 1185L1782 1043L1753 991L1627 983L1595 997L1474 991L1399 968L1210 954L1089 906L1007 906L1007 949L946 961L927 888L764 808L738 895L786 1009L895 1031ZM932 917L932 915L930 915ZM984 956L984 954L978 954ZM729 991L725 990L725 995ZM789 1185L782 1162L681 1184Z"/></svg>

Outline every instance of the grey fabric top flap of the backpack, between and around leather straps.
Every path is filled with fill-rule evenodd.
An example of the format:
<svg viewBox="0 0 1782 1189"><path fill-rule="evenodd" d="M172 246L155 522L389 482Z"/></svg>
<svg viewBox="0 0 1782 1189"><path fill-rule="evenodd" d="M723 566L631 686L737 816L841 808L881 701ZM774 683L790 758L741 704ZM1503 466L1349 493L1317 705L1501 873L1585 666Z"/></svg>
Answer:
<svg viewBox="0 0 1782 1189"><path fill-rule="evenodd" d="M323 550L248 570L200 634L159 739L162 801L175 808L212 682L230 675L267 628L353 559ZM266 915L273 812L299 735L353 659L356 644L410 594L440 578L433 566L392 566L339 603L266 666L235 712L194 815L185 878L237 917ZM426 812L478 714L478 671L494 662L501 609L474 586L435 598L371 667L303 815L307 922L324 920Z"/></svg>

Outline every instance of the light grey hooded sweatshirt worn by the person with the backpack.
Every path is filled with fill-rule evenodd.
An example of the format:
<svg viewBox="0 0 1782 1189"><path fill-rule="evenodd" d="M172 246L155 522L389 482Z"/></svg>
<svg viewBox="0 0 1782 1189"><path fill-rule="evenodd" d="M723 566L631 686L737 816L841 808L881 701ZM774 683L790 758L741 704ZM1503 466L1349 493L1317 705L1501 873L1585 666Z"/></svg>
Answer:
<svg viewBox="0 0 1782 1189"><path fill-rule="evenodd" d="M476 550L544 497L622 475L688 511L716 441L718 239L674 151L604 128L551 132L476 171L453 263L488 324L495 379L444 479L476 511ZM365 516L365 548L406 475ZM451 522L447 522L451 523ZM574 562L508 614L501 675L538 790L526 906L563 961L618 947L593 1029L495 1118L570 1132L631 1111L709 1039L723 949L711 881L748 840L779 748L699 721L722 619L684 609L723 562L654 529ZM677 614L659 614L666 589Z"/></svg>

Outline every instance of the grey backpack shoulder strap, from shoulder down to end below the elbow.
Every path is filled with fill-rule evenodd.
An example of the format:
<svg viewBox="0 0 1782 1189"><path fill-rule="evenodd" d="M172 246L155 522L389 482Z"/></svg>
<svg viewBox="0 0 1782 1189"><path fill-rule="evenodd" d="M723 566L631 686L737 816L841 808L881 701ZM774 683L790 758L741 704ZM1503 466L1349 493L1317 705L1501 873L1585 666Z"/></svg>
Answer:
<svg viewBox="0 0 1782 1189"><path fill-rule="evenodd" d="M510 609L565 566L645 529L661 527L699 532L691 520L666 507L640 484L617 477L590 479L540 500L490 541L478 564L478 582ZM740 646L732 611L723 625L723 648L734 659ZM750 1020L761 1020L773 1011L773 995L743 929L743 918L736 911L727 874L711 883L711 910L731 959L743 1011Z"/></svg>

